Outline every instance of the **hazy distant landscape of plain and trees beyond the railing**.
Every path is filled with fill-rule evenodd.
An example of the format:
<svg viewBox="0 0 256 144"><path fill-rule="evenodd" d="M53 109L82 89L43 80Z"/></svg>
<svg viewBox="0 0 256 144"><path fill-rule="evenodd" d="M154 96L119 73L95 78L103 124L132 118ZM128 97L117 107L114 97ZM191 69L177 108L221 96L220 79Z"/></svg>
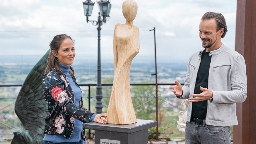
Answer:
<svg viewBox="0 0 256 144"><path fill-rule="evenodd" d="M1 56L0 57L0 85L22 85L28 73L34 65L41 59L42 56L28 55L28 56ZM97 83L97 59L92 56L83 56L75 59L73 65L75 69L75 76L78 84L96 84ZM157 81L158 84L174 83L177 79L180 83L184 82L187 70L186 62L165 62L161 60L157 62ZM139 57L134 58L130 69L130 84L150 83L155 84L155 61L154 57ZM114 77L113 60L111 57L103 57L101 59L101 81L102 84L111 84ZM0 87L0 138L6 137L21 127L20 121L14 112L14 103L18 96L20 86L18 87ZM87 94L88 87L81 86L83 91L85 107L88 107ZM140 101L149 101L154 99L155 87L151 86L131 86L131 94L134 101L134 107L141 105L137 103L136 99ZM178 113L182 110L180 105L181 100L174 97L168 85L158 86L159 103L159 119L161 119L161 129L163 133L177 133ZM91 87L92 99L95 99L95 87ZM146 92L145 92L146 91ZM108 100L110 97L111 87L104 87L103 93L103 112L107 110ZM145 97L148 98L140 98ZM87 98L86 98L87 97ZM135 98L136 97L136 98ZM137 108L135 110L137 118L140 119L155 119L154 103L148 102L153 105L150 117L141 116L146 112ZM95 111L95 101L92 101L91 111ZM145 107L149 105L144 104ZM145 108L144 108L145 109ZM147 109L147 108L146 108ZM168 112L166 112L168 111ZM7 126L6 126L7 125ZM11 128L10 128L11 127ZM171 127L166 129L166 127ZM175 129L176 128L176 129ZM5 136L3 136L3 134ZM8 135L7 135L8 136Z"/></svg>

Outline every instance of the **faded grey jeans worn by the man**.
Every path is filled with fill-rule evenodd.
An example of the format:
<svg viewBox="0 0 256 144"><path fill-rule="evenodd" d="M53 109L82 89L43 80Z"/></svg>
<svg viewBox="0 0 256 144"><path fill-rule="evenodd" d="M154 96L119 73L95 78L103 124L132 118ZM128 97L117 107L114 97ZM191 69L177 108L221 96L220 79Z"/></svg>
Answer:
<svg viewBox="0 0 256 144"><path fill-rule="evenodd" d="M185 144L231 144L230 127L186 123Z"/></svg>

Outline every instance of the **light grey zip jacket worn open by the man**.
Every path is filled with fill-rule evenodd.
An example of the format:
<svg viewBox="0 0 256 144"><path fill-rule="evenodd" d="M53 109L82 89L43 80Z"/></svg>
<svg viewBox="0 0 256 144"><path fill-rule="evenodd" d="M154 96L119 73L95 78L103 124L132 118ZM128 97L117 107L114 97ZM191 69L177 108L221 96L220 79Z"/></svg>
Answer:
<svg viewBox="0 0 256 144"><path fill-rule="evenodd" d="M188 99L194 93L201 55L205 49L193 54L188 62L183 94L179 99ZM213 126L237 125L236 103L247 97L247 77L244 57L224 44L211 51L208 89L213 101L208 100L206 124ZM190 122L192 103L188 105L187 121Z"/></svg>

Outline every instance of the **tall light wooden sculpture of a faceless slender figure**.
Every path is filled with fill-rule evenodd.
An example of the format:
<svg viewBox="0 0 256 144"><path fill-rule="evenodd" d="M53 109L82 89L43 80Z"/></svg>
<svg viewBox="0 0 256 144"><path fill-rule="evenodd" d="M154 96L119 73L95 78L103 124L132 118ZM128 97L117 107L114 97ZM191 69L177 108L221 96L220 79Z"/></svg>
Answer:
<svg viewBox="0 0 256 144"><path fill-rule="evenodd" d="M137 14L137 4L126 0L122 5L125 24L116 24L114 29L114 81L107 110L108 123L136 123L131 93L130 66L139 53L139 28L133 25Z"/></svg>

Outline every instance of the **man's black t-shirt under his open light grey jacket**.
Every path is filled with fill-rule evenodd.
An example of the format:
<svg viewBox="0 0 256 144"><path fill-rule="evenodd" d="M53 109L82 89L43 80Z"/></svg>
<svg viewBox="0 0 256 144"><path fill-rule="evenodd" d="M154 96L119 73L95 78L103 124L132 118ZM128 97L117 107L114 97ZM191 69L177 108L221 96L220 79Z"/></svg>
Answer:
<svg viewBox="0 0 256 144"><path fill-rule="evenodd" d="M211 63L211 56L209 56L209 52L204 51L202 53L201 63L197 73L194 94L199 94L203 92L200 90L200 86L203 88L208 88L208 76L209 76L210 63ZM205 119L206 110L207 110L207 100L193 102L191 119L194 119L194 118Z"/></svg>

